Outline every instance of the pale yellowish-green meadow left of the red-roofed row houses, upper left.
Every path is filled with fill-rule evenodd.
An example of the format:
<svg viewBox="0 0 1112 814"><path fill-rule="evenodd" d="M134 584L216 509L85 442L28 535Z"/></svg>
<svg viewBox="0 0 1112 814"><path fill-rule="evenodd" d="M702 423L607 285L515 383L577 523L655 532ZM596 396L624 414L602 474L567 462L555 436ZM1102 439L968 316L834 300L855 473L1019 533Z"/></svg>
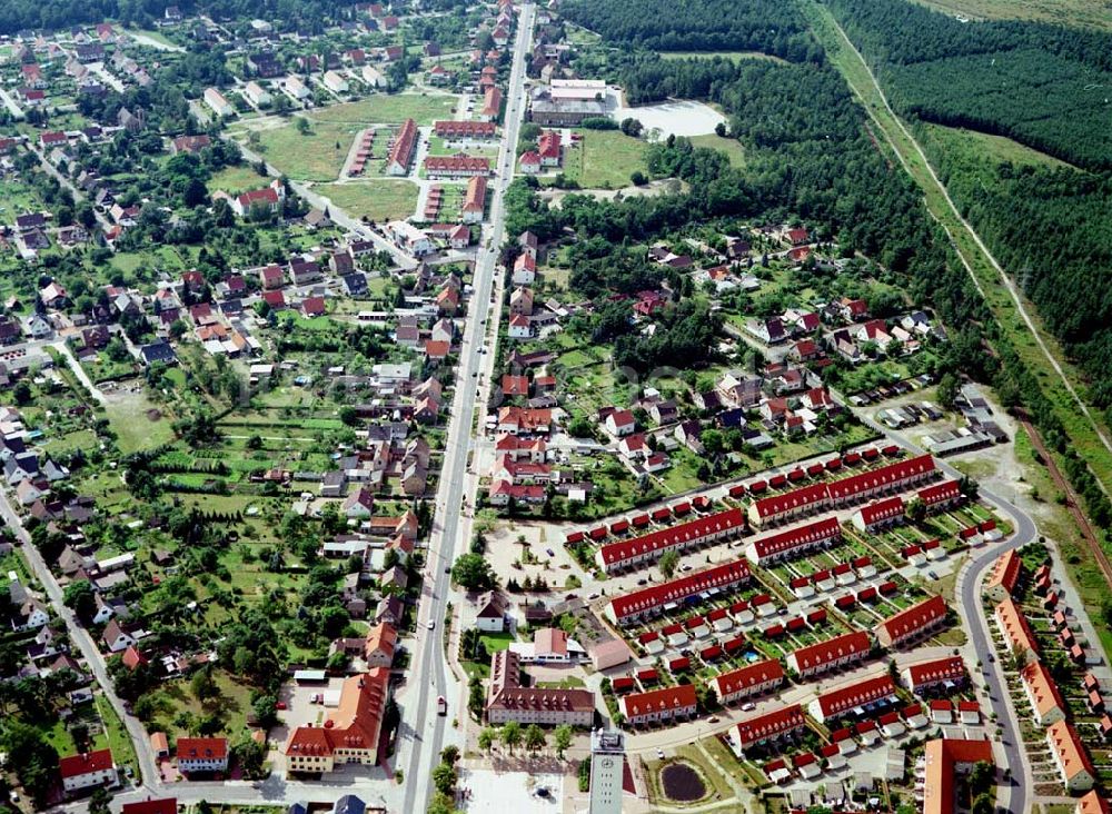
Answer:
<svg viewBox="0 0 1112 814"><path fill-rule="evenodd" d="M360 129L354 123L312 120L309 130L302 133L291 122L271 130L258 130L259 141L254 149L267 163L295 180L334 181ZM234 137L246 142L247 131L236 130Z"/></svg>

